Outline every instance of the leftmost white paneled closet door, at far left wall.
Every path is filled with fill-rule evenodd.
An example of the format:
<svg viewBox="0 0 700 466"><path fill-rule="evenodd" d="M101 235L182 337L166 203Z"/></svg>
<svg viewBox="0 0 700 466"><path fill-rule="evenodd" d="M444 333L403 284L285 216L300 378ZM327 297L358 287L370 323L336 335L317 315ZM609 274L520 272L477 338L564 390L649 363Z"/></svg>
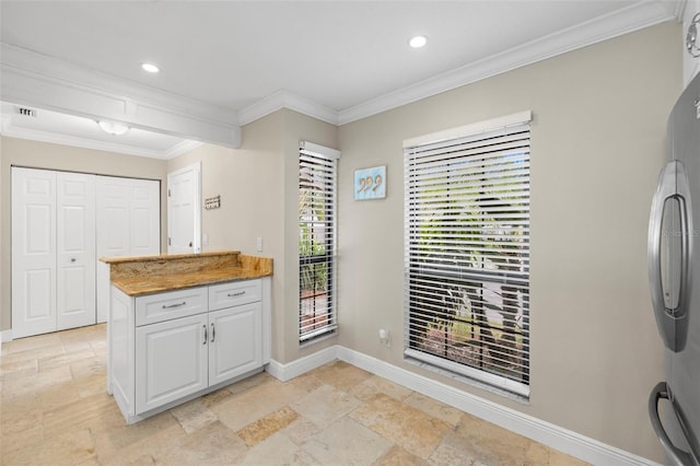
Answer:
<svg viewBox="0 0 700 466"><path fill-rule="evenodd" d="M56 173L12 168L12 336L56 330Z"/></svg>

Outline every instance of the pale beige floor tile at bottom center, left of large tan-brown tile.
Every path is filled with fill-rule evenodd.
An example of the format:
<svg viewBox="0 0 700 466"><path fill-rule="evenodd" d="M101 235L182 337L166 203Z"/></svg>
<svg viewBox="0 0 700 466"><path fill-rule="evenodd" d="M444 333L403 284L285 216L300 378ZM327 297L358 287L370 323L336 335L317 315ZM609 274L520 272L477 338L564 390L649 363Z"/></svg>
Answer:
<svg viewBox="0 0 700 466"><path fill-rule="evenodd" d="M307 439L302 448L324 465L371 465L392 448L392 442L345 417Z"/></svg>

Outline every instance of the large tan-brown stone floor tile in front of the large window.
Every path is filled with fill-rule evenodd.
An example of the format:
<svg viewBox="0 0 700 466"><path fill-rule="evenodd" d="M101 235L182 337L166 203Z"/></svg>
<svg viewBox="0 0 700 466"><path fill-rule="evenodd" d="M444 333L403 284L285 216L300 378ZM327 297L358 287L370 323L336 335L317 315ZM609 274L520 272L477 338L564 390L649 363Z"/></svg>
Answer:
<svg viewBox="0 0 700 466"><path fill-rule="evenodd" d="M349 416L423 459L450 430L446 422L384 394L363 403Z"/></svg>

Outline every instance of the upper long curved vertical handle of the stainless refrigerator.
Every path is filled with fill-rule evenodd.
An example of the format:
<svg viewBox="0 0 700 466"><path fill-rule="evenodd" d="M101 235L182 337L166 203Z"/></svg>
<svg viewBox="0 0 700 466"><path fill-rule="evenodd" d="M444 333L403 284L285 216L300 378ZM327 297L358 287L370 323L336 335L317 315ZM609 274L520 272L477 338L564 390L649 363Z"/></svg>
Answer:
<svg viewBox="0 0 700 466"><path fill-rule="evenodd" d="M664 211L667 201L678 205L680 232L664 231ZM649 280L652 293L652 305L658 331L664 345L670 351L682 351L687 339L687 315L690 304L690 271L692 257L692 208L688 176L678 161L668 162L658 177L658 186L652 201L649 221ZM680 245L680 270L678 275L678 295L674 299L673 290L664 290L662 280L662 237L673 238L677 235ZM668 296L668 295L670 296Z"/></svg>

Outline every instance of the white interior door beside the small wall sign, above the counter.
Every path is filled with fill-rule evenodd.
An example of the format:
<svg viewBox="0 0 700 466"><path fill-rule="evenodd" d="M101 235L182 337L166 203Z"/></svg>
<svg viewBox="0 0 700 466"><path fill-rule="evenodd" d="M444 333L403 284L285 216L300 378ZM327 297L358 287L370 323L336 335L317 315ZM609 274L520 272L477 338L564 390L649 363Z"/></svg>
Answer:
<svg viewBox="0 0 700 466"><path fill-rule="evenodd" d="M201 252L201 164L167 175L167 252Z"/></svg>

